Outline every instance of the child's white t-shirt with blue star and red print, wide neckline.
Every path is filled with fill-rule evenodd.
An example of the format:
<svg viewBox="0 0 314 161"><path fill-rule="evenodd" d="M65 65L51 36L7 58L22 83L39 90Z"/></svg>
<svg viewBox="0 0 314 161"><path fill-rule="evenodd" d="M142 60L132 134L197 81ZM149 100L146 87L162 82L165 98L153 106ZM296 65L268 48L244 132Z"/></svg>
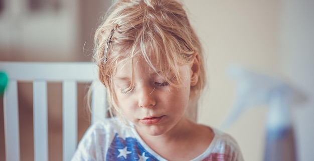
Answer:
<svg viewBox="0 0 314 161"><path fill-rule="evenodd" d="M211 144L193 161L242 161L236 141L228 134L213 128ZM72 161L77 160L167 160L153 151L133 127L116 117L91 125L81 139Z"/></svg>

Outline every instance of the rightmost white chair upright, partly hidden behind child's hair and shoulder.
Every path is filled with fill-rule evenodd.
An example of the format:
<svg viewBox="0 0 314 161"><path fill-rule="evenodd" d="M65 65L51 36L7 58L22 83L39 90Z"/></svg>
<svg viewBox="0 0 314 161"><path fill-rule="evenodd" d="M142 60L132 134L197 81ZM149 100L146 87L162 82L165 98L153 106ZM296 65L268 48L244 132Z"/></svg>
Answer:
<svg viewBox="0 0 314 161"><path fill-rule="evenodd" d="M106 88L96 80L92 83L92 89L92 123L104 121L107 112Z"/></svg>

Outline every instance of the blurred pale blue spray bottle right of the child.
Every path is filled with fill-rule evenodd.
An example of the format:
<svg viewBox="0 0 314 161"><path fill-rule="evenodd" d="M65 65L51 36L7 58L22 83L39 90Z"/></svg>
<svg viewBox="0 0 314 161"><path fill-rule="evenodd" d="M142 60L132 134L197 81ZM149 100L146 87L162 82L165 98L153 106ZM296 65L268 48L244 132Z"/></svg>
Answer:
<svg viewBox="0 0 314 161"><path fill-rule="evenodd" d="M238 81L237 98L221 128L228 128L249 108L266 105L266 143L264 161L295 161L291 107L304 96L283 81L240 67L229 75Z"/></svg>

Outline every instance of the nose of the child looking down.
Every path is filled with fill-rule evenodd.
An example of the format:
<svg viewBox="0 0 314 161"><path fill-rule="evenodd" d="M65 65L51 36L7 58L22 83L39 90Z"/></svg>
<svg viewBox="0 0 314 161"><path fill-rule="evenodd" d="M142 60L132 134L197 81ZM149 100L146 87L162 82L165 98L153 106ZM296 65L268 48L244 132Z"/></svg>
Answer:
<svg viewBox="0 0 314 161"><path fill-rule="evenodd" d="M142 86L138 91L138 106L153 107L156 104L154 88L150 86Z"/></svg>

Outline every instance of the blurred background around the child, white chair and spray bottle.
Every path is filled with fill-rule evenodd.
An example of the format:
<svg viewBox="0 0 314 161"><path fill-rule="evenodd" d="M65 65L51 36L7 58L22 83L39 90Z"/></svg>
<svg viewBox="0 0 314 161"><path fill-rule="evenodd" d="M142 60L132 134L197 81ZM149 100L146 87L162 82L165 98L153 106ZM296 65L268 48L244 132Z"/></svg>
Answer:
<svg viewBox="0 0 314 161"><path fill-rule="evenodd" d="M206 53L208 86L198 121L220 128L236 102L231 65L292 84L306 102L291 108L296 158L314 158L314 1L181 0ZM0 0L0 61L90 61L94 31L111 0ZM34 160L32 83L19 86L21 159ZM90 124L78 85L78 140ZM62 159L62 85L48 83L49 160ZM245 160L263 160L268 108L244 111L227 129ZM0 160L5 160L3 98L0 99Z"/></svg>

